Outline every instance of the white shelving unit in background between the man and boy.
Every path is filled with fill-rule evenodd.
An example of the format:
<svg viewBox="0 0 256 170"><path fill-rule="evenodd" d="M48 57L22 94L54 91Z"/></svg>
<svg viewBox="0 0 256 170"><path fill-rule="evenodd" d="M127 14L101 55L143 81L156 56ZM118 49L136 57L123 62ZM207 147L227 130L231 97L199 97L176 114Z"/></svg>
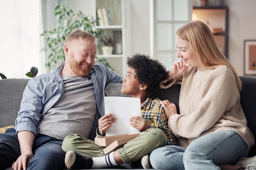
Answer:
<svg viewBox="0 0 256 170"><path fill-rule="evenodd" d="M95 26L95 29L102 29L103 33L101 37L111 37L112 40L114 38L114 32L118 31L121 33L121 39L119 41L119 47L121 44L121 52L119 49L119 53L115 50L114 47L112 55L103 55L101 47L103 44L97 40L98 49L97 49L97 57L104 57L119 75L125 75L127 71L126 59L131 55L130 53L130 21L129 21L129 13L130 13L130 1L126 0L94 0L94 15L97 15L97 9L104 8L108 11L109 19L111 23L109 25L104 26ZM128 16L128 17L127 17ZM117 43L116 43L117 44Z"/></svg>

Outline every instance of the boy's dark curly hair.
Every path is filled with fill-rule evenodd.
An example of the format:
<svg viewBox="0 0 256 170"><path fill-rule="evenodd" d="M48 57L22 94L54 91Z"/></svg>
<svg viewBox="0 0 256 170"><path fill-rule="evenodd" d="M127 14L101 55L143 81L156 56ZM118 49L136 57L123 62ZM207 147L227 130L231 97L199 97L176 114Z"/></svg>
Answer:
<svg viewBox="0 0 256 170"><path fill-rule="evenodd" d="M147 96L154 97L160 83L168 78L165 66L150 56L136 53L127 58L128 67L135 70L139 83L148 85Z"/></svg>

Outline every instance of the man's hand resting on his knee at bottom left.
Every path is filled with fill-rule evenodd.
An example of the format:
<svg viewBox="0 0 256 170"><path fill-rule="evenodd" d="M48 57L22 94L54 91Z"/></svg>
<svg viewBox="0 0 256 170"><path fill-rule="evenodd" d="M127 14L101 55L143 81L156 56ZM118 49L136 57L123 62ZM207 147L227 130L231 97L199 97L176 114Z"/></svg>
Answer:
<svg viewBox="0 0 256 170"><path fill-rule="evenodd" d="M34 155L32 152L27 152L20 155L20 157L18 157L16 162L12 164L11 168L13 170L21 170L22 168L23 170L26 170L27 166L29 165L29 161L32 159L33 156Z"/></svg>

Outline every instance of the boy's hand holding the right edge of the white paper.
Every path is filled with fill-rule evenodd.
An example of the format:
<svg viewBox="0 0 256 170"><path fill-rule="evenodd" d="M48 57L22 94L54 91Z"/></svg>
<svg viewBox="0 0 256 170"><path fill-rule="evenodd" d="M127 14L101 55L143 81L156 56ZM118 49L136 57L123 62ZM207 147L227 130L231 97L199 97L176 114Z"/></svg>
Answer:
<svg viewBox="0 0 256 170"><path fill-rule="evenodd" d="M150 126L148 121L146 119L144 119L143 117L140 117L140 116L132 116L129 119L129 123L130 123L130 126L136 128L140 132L144 132Z"/></svg>

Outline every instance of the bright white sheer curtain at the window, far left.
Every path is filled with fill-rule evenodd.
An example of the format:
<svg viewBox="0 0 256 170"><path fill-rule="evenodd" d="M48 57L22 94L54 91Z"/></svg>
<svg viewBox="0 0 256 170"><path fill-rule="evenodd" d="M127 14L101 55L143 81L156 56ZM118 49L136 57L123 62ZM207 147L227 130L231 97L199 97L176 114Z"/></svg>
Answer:
<svg viewBox="0 0 256 170"><path fill-rule="evenodd" d="M0 0L0 73L29 78L30 68L45 73L41 0Z"/></svg>

